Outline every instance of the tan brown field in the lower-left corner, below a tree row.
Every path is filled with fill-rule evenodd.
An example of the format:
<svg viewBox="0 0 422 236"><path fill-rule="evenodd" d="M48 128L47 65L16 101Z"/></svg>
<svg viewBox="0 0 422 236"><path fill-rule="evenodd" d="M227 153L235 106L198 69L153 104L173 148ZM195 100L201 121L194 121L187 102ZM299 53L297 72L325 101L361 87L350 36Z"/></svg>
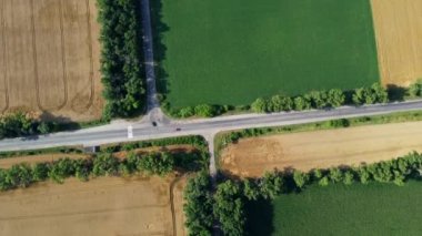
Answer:
<svg viewBox="0 0 422 236"><path fill-rule="evenodd" d="M185 235L185 181L173 179L68 179L0 193L0 235Z"/></svg>

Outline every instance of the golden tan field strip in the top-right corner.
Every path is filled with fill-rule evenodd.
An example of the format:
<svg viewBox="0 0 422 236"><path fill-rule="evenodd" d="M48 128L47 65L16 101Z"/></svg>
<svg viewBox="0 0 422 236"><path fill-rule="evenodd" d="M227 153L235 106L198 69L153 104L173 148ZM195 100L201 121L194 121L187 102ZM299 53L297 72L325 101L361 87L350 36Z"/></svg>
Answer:
<svg viewBox="0 0 422 236"><path fill-rule="evenodd" d="M422 78L422 1L371 2L382 83L406 86Z"/></svg>

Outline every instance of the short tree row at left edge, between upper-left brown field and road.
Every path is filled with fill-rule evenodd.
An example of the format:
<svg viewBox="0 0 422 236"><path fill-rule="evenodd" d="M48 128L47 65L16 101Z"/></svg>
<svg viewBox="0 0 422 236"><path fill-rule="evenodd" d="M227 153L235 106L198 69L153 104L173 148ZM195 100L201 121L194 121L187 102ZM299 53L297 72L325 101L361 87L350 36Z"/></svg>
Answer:
<svg viewBox="0 0 422 236"><path fill-rule="evenodd" d="M0 117L0 140L7 137L47 134L56 129L56 123L39 122L23 112L10 113Z"/></svg>

